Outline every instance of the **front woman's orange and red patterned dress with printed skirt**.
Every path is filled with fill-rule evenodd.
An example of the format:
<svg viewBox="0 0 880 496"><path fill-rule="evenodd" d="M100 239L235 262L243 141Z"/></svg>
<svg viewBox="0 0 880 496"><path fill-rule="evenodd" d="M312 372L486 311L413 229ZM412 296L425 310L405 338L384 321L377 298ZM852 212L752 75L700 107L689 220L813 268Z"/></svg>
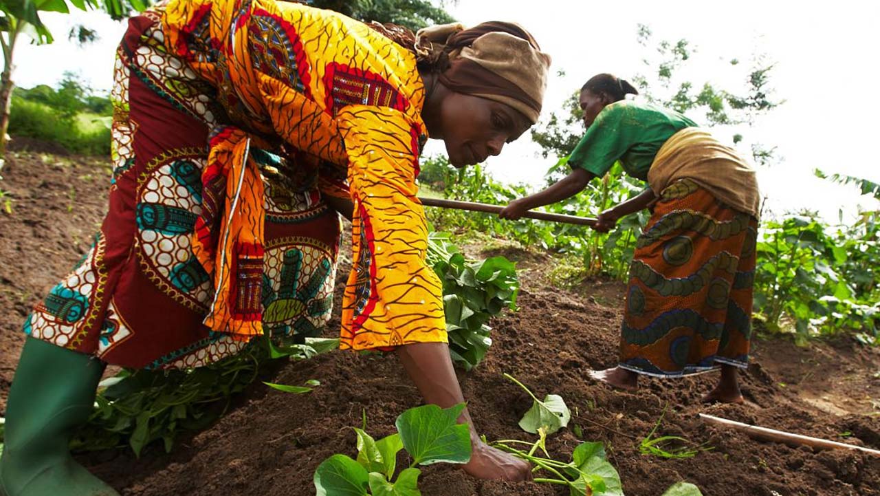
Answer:
<svg viewBox="0 0 880 496"><path fill-rule="evenodd" d="M108 363L201 366L262 334L314 336L355 206L341 347L445 342L416 198L415 57L360 22L275 0L172 0L117 52L114 179L92 250L33 337Z"/></svg>

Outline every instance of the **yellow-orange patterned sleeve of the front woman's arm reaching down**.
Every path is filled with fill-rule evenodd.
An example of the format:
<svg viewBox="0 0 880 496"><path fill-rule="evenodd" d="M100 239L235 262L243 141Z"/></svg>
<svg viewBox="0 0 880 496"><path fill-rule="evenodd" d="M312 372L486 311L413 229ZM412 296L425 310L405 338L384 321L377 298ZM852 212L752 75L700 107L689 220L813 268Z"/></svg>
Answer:
<svg viewBox="0 0 880 496"><path fill-rule="evenodd" d="M428 226L416 197L421 124L392 108L361 105L343 107L336 118L355 207L341 348L446 343L443 286L425 262Z"/></svg>

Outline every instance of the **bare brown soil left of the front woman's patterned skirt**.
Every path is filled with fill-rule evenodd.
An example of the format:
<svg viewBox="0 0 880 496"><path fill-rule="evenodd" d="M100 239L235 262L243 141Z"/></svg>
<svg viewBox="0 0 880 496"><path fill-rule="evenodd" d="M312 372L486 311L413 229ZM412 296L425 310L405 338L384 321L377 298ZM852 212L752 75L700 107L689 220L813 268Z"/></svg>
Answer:
<svg viewBox="0 0 880 496"><path fill-rule="evenodd" d="M21 138L16 138L12 143ZM12 146L15 150L15 146ZM25 342L26 315L92 246L106 211L110 168L104 159L7 152L0 189L0 389L12 381ZM0 205L4 206L4 205ZM6 408L6 395L0 409Z"/></svg>

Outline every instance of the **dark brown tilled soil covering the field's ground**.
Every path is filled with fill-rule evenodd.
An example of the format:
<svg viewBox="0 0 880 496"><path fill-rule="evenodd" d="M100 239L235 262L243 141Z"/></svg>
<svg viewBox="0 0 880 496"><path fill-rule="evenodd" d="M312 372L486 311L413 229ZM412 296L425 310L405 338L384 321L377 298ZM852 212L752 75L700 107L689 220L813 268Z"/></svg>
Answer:
<svg viewBox="0 0 880 496"><path fill-rule="evenodd" d="M97 228L105 198L106 165L87 159L10 157L0 188L15 199L13 214L0 213L0 389L8 389L28 308L75 263ZM71 191L73 193L71 193ZM71 201L74 196L74 201ZM473 247L472 247L473 248ZM578 440L601 440L630 496L659 496L678 480L707 496L876 496L880 458L853 451L759 442L706 426L706 412L761 426L880 448L880 351L841 337L798 348L786 339L757 340L754 364L744 374L747 403L700 404L716 377L644 381L635 393L612 391L590 381L590 368L612 366L620 302L603 305L590 293L546 284L552 259L506 249L520 263L524 290L520 311L493 322L495 344L473 372L459 374L473 418L489 440L532 436L517 427L531 401L505 380L510 373L538 395L563 396L574 416L569 429L548 442L567 458ZM343 260L340 274L347 270ZM603 283L601 295L622 292ZM338 329L334 322L327 334ZM150 447L139 460L126 450L81 455L99 477L126 496L310 495L312 474L328 455L354 455L355 434L366 412L367 430L392 433L394 418L420 397L393 356L332 352L282 367L274 381L301 384L319 379L307 396L248 390L225 418L180 440L171 455ZM639 441L664 409L657 435L678 435L706 448L694 458L667 460L641 455ZM450 466L426 467L426 496L551 496L558 488L533 483L479 481Z"/></svg>

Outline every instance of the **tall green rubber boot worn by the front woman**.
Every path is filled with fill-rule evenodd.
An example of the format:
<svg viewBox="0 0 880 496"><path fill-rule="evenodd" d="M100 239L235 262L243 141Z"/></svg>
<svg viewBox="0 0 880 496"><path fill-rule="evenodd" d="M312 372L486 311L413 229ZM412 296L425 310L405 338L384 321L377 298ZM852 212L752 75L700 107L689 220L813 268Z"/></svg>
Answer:
<svg viewBox="0 0 880 496"><path fill-rule="evenodd" d="M0 487L6 496L119 496L70 456L92 413L104 364L28 337L6 406Z"/></svg>

